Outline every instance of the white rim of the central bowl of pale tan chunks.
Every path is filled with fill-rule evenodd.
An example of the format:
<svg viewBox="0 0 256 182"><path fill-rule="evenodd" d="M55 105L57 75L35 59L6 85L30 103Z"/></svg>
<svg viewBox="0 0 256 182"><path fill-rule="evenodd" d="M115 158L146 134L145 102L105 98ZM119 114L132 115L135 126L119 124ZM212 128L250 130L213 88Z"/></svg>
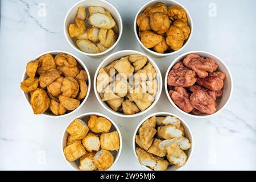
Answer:
<svg viewBox="0 0 256 182"><path fill-rule="evenodd" d="M156 94L155 96L155 101L144 111L140 111L139 113L136 113L136 114L131 114L131 115L126 115L126 114L122 114L122 113L118 113L117 111L114 111L113 109L110 109L110 107L107 107L105 104L104 104L104 101L101 101L101 98L100 98L100 95L99 93L97 92L97 86L96 86L96 82L97 82L97 76L98 76L98 71L100 70L100 68L102 67L102 65L108 60L110 59L111 57L119 54L119 53L122 53L122 54L125 54L127 52L127 55L133 55L133 54L139 54L139 55L143 55L143 56L147 56L146 54L142 53L142 52L139 52L139 51L134 51L134 50L122 50L122 51L117 51L117 52L114 52L112 54L110 54L108 57L106 57L100 65L98 65L98 68L96 69L96 72L95 72L95 75L94 75L94 81L93 81L93 88L94 88L94 93L96 95L96 98L98 100L98 102L100 102L101 106L104 107L106 110L108 110L110 113L114 114L114 115L117 115L119 117L124 117L124 118L133 118L133 117L138 117L139 115L142 115L142 114L145 114L147 113L148 111L150 111L152 109L152 107L154 107L156 105L156 103L159 101L159 98L161 96L161 93L162 93L162 89L163 89L163 78L162 78L162 75L161 75L161 72L160 72L160 69L158 67L158 65L155 63L154 60L151 59L151 57L147 56L147 59L148 61L150 61L150 63L154 66L154 68L156 69L156 73L159 75L159 79L158 80L158 86L159 86L159 92L158 94ZM128 53L128 52L132 52L132 53ZM114 61L114 60L113 60ZM113 62L112 61L112 62Z"/></svg>

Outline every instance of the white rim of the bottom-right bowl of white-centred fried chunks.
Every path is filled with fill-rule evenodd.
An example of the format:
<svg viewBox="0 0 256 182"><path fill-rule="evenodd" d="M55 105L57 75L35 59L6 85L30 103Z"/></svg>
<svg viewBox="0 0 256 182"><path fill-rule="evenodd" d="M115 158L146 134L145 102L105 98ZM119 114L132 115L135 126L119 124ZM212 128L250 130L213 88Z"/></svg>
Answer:
<svg viewBox="0 0 256 182"><path fill-rule="evenodd" d="M179 167L177 170L174 170L174 171L179 171L181 168L187 166L190 159L192 158L193 150L194 150L194 146L195 146L195 139L193 137L193 133L192 133L190 127L188 126L188 124L182 118L177 116L176 114L172 114L172 113L169 113L169 112L157 112L157 113L152 113L152 114L148 115L147 117L145 117L144 119L142 119L142 121L138 124L138 126L135 129L134 134L133 134L133 152L134 152L135 158L137 159L137 161L139 163L139 159L138 159L138 156L137 156L137 153L136 153L136 142L135 142L135 137L138 133L139 128L141 127L142 123L144 123L147 119L149 119L151 117L154 117L154 116L160 116L160 115L171 115L171 116L174 116L174 117L180 119L181 125L185 125L185 127L187 127L187 129L188 129L188 133L191 135L191 139L189 140L190 143L191 143L191 148L189 149L191 151L191 153L190 153L189 157L187 158L187 162L184 164L184 166ZM139 163L139 164L141 166L143 166L141 163ZM146 166L143 166L143 167L146 168L148 171L154 171L153 169L151 169L149 167L146 167Z"/></svg>

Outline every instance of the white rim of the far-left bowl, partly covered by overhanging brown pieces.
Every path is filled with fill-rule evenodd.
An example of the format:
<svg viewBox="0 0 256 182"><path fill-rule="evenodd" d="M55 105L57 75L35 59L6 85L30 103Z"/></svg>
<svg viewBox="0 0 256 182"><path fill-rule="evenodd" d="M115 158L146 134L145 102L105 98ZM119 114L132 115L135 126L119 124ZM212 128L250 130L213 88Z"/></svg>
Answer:
<svg viewBox="0 0 256 182"><path fill-rule="evenodd" d="M67 116L69 116L69 115L75 113L75 112L76 112L77 110L79 110L79 109L85 104L85 102L88 100L88 97L89 97L89 94L90 94L91 85L92 85L92 82L91 82L91 80L90 80L90 73L89 73L88 68L86 67L86 65L82 62L82 60L81 60L79 57L77 57L77 56L75 56L75 55L73 55L72 53L67 52L67 51L62 51L62 50L46 51L46 52L40 53L40 54L39 54L38 56L36 56L33 60L36 60L36 59L38 59L39 57L41 57L41 56L43 56L43 55L46 55L47 53L51 53L51 54L52 54L52 53L65 53L65 54L68 54L68 55L73 56L73 57L76 59L76 61L79 62L79 64L82 66L82 68L86 71L86 73L87 73L87 75L88 75L88 92L87 92L87 94L86 94L86 96L85 96L85 98L84 98L84 101L82 101L82 102L80 103L80 105L79 105L75 110L72 110L70 113L63 114L63 115L48 115L48 114L45 114L45 113L39 114L39 115L44 115L45 117L48 117L48 118L64 118L64 117L67 117ZM23 75L22 75L22 81L24 81L26 78L27 78L27 76L26 76L26 68L25 68L25 71L23 72ZM22 82L22 81L21 81L21 82ZM22 90L22 94L23 94L23 97L25 98L27 104L31 107L30 101L28 101L28 99L27 99L27 97L26 97L26 94L27 94L27 93L23 92L23 90Z"/></svg>

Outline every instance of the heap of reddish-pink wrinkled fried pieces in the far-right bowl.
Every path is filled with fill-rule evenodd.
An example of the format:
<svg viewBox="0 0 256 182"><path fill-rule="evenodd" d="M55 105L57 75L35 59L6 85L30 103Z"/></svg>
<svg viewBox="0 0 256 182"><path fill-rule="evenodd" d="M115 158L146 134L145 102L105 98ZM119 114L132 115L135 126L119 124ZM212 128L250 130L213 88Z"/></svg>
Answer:
<svg viewBox="0 0 256 182"><path fill-rule="evenodd" d="M186 113L215 113L226 79L226 74L216 71L217 68L213 59L196 54L177 62L167 80L172 101Z"/></svg>

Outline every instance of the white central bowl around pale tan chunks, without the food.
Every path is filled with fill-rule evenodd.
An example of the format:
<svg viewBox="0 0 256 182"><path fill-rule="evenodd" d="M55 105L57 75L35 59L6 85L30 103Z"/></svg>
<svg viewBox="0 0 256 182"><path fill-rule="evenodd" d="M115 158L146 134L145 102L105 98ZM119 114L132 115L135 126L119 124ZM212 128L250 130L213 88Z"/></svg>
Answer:
<svg viewBox="0 0 256 182"><path fill-rule="evenodd" d="M100 94L97 92L96 89L96 82L97 82L97 76L98 76L98 71L100 71L100 68L105 68L106 66L108 66L110 63L112 63L115 60L120 59L121 57L125 57L125 56L129 56L129 55L134 55L134 54L140 54L140 55L145 55L144 53L138 52L138 51L133 51L133 50L125 50L125 51L118 51L115 53L112 53L111 55L109 55L108 57L106 57L101 64L98 66L95 76L94 76L94 83L93 83L93 88L94 88L94 92L96 94L97 100L98 102L100 102L100 104L106 109L108 110L110 113L117 115L119 117L126 117L126 118L131 118L131 117L138 117L139 115L142 115L144 113L146 113L147 111L149 111L150 109L152 109L152 107L154 107L154 105L156 104L156 102L158 102L160 94L162 92L162 87L163 87L163 83L162 83L162 75L160 73L160 70L158 68L158 65L155 64L155 62L147 56L148 61L153 65L153 67L156 70L156 80L158 81L158 93L155 96L155 101L151 104L150 107L148 107L146 110L141 111L139 113L136 114L132 114L132 115L126 115L123 113L119 113L117 111L114 111L111 107L109 107L104 101L101 100Z"/></svg>

